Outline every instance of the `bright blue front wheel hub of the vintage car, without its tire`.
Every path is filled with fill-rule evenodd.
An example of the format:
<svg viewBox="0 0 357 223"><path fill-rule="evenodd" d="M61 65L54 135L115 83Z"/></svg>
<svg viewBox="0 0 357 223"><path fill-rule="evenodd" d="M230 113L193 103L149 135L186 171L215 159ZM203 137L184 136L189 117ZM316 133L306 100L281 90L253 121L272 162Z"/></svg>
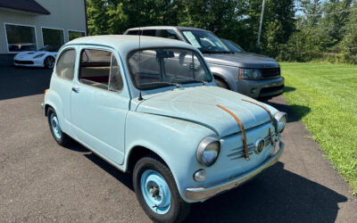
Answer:
<svg viewBox="0 0 357 223"><path fill-rule="evenodd" d="M158 172L153 169L145 170L141 176L140 186L146 204L154 212L165 214L170 210L170 189Z"/></svg>

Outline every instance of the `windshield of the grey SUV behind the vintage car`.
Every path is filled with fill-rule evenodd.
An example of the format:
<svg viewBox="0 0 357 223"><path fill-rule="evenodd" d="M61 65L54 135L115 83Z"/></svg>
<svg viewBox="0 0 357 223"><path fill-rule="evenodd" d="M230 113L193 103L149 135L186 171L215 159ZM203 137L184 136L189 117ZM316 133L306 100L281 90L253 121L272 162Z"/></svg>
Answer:
<svg viewBox="0 0 357 223"><path fill-rule="evenodd" d="M194 45L203 54L229 53L229 49L224 45L219 37L211 32L203 30L183 30L182 33L191 45Z"/></svg>

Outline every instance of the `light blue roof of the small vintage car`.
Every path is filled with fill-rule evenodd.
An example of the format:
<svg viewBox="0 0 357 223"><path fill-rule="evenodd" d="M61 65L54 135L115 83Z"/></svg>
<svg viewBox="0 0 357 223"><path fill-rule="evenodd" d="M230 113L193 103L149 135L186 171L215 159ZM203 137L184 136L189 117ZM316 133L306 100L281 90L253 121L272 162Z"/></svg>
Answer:
<svg viewBox="0 0 357 223"><path fill-rule="evenodd" d="M109 46L117 50L120 55L126 55L130 51L139 48L151 47L180 47L189 48L198 52L194 46L189 45L183 41L162 38L162 37L145 37L145 36L132 36L132 35L102 35L91 37L79 37L71 40L65 45L102 45Z"/></svg>

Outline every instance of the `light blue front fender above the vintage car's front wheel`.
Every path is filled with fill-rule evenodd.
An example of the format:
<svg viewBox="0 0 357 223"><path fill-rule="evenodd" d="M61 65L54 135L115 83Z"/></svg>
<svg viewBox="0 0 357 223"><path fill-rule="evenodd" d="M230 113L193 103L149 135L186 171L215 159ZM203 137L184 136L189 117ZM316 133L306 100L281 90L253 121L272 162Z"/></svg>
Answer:
<svg viewBox="0 0 357 223"><path fill-rule="evenodd" d="M181 197L185 189L199 186L193 175L203 167L196 160L196 148L205 136L216 136L210 128L205 128L186 120L129 111L126 123L126 151L124 169L128 169L131 150L144 146L159 155L169 166ZM192 202L192 201L191 201Z"/></svg>

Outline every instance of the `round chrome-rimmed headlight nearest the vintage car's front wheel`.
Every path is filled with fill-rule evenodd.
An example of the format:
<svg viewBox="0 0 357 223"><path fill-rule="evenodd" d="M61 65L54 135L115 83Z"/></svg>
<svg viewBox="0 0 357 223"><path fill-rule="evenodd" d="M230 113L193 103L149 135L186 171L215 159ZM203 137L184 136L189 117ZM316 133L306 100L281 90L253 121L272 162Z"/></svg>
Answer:
<svg viewBox="0 0 357 223"><path fill-rule="evenodd" d="M220 141L214 137L205 137L197 147L197 161L210 167L220 154Z"/></svg>

